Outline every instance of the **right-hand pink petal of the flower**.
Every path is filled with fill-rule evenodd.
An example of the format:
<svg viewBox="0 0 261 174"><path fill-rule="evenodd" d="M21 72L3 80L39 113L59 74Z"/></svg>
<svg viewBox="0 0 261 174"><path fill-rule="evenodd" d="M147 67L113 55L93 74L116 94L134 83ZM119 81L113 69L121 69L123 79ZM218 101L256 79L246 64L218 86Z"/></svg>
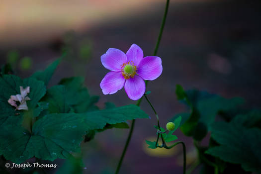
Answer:
<svg viewBox="0 0 261 174"><path fill-rule="evenodd" d="M137 74L144 80L153 81L162 74L161 58L148 56L141 60Z"/></svg>

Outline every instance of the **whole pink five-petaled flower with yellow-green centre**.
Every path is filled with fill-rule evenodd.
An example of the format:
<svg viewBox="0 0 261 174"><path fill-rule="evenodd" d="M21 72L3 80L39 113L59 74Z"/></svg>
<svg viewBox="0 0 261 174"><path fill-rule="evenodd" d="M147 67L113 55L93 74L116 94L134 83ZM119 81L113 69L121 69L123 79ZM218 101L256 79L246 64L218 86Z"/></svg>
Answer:
<svg viewBox="0 0 261 174"><path fill-rule="evenodd" d="M137 100L145 92L144 80L153 81L162 74L162 61L157 56L143 57L142 49L132 44L127 53L109 48L100 57L102 65L110 70L100 83L103 94L113 94L122 87L128 97Z"/></svg>

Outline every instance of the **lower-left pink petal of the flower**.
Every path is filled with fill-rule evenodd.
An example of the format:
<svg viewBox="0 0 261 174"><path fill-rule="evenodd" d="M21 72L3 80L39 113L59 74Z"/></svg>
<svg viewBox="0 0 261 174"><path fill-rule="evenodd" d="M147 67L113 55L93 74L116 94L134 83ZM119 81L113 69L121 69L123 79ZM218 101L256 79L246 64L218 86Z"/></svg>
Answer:
<svg viewBox="0 0 261 174"><path fill-rule="evenodd" d="M103 94L113 94L120 90L125 83L121 72L109 72L105 75L100 83Z"/></svg>

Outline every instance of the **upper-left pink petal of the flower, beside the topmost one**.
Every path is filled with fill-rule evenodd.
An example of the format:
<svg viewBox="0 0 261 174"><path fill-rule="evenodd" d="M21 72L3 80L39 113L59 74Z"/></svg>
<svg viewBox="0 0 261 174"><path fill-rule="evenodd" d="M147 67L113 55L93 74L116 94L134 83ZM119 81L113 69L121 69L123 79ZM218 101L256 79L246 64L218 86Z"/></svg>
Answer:
<svg viewBox="0 0 261 174"><path fill-rule="evenodd" d="M108 51L100 57L102 65L108 70L119 72L121 65L127 63L127 56L121 50L109 48Z"/></svg>

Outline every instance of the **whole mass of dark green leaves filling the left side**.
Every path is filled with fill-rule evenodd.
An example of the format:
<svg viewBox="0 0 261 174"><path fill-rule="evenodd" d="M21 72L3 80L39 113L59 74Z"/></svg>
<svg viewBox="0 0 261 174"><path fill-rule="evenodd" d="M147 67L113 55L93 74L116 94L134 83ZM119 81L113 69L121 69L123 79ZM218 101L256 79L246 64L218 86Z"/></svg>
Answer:
<svg viewBox="0 0 261 174"><path fill-rule="evenodd" d="M67 78L46 91L60 59L43 72L20 79L0 76L0 155L14 163L36 157L53 161L72 158L80 150L84 135L92 139L97 130L128 128L127 120L148 118L136 105L115 107L106 104L99 110L98 96L90 96L84 78ZM20 94L19 87L30 87L28 111L15 110L7 100ZM88 141L88 139L86 139Z"/></svg>

